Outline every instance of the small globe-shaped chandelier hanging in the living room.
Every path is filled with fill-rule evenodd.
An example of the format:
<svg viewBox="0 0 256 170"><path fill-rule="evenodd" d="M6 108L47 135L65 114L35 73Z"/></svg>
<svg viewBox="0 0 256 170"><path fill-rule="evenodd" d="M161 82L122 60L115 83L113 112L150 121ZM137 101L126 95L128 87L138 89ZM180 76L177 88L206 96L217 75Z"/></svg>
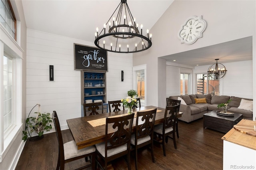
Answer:
<svg viewBox="0 0 256 170"><path fill-rule="evenodd" d="M216 64L211 65L207 71L208 76L212 77L213 79L221 79L222 77L224 77L224 75L226 75L227 70L223 64L218 64L219 59L215 60Z"/></svg>

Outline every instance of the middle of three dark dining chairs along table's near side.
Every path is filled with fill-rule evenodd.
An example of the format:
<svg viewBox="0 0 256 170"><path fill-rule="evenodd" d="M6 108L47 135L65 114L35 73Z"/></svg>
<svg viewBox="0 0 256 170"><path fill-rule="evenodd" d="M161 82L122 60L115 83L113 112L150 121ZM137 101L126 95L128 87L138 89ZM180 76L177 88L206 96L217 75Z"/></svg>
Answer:
<svg viewBox="0 0 256 170"><path fill-rule="evenodd" d="M135 166L138 169L138 148L150 146L152 162L154 158L154 124L156 118L156 109L149 111L138 111L136 115L136 128L135 134L132 134L131 145L135 149ZM132 149L133 150L133 149Z"/></svg>

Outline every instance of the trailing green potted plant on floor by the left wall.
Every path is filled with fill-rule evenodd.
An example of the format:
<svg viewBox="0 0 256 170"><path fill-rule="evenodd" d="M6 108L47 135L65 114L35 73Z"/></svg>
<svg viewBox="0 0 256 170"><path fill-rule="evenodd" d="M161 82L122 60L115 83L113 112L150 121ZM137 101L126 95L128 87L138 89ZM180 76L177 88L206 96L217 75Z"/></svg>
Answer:
<svg viewBox="0 0 256 170"><path fill-rule="evenodd" d="M29 117L31 111L34 107L38 106L38 112L35 112L36 117ZM22 140L24 142L29 138L30 141L39 140L43 138L44 130L49 131L52 129L52 118L50 117L50 113L41 113L40 104L36 104L30 113L28 114L28 118L26 119L26 127L25 131L22 131L23 137ZM36 132L38 136L32 137L32 132Z"/></svg>

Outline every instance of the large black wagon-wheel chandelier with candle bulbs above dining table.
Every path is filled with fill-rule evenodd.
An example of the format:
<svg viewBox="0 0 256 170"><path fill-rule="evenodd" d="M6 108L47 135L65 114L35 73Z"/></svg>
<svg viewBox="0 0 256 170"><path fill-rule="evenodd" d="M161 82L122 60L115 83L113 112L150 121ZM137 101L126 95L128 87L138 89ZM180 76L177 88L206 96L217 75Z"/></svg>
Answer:
<svg viewBox="0 0 256 170"><path fill-rule="evenodd" d="M116 53L135 53L150 48L152 34L149 35L147 30L147 37L143 36L142 24L140 31L138 30L138 23L135 22L126 0L121 0L118 7L100 33L98 27L96 28L94 44L100 49ZM113 22L110 22L112 17ZM106 24L109 25L108 31ZM138 42L141 43L137 44Z"/></svg>

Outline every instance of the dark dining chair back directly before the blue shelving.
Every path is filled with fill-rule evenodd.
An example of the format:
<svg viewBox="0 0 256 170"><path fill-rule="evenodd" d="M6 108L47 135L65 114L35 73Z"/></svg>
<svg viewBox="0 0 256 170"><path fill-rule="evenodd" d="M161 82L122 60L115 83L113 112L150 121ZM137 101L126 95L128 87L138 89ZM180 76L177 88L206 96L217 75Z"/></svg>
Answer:
<svg viewBox="0 0 256 170"><path fill-rule="evenodd" d="M99 106L101 106L101 108ZM101 113L103 113L103 101L97 103L84 103L84 116L98 115Z"/></svg>

